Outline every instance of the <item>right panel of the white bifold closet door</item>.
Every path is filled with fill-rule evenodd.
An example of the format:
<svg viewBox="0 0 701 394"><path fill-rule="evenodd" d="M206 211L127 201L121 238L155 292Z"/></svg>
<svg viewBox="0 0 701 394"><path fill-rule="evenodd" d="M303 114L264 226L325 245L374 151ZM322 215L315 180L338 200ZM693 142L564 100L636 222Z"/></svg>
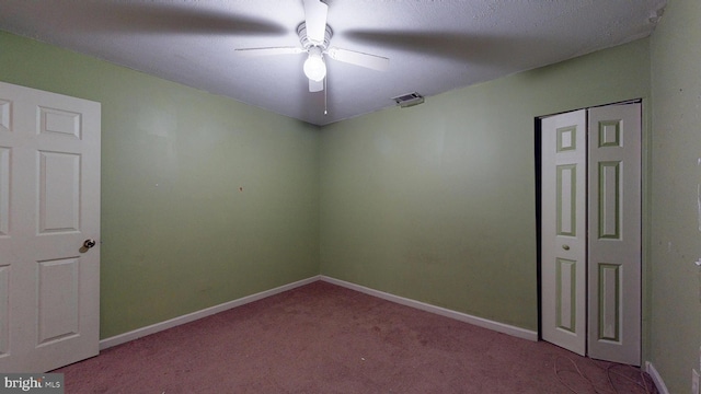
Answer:
<svg viewBox="0 0 701 394"><path fill-rule="evenodd" d="M589 356L640 366L641 104L589 109Z"/></svg>

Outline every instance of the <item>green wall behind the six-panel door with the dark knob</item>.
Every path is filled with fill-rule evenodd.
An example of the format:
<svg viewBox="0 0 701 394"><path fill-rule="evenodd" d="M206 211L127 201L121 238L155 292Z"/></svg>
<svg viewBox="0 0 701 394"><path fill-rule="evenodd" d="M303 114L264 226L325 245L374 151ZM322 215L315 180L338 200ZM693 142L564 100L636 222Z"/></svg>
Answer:
<svg viewBox="0 0 701 394"><path fill-rule="evenodd" d="M319 128L7 33L0 48L0 80L102 103L102 338L319 274Z"/></svg>

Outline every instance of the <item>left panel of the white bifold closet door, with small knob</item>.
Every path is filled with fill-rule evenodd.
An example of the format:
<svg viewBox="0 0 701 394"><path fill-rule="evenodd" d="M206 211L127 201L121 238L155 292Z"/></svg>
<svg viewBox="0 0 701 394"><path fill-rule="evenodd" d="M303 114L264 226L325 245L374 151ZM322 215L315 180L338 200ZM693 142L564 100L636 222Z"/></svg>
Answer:
<svg viewBox="0 0 701 394"><path fill-rule="evenodd" d="M542 119L542 338L586 354L585 109Z"/></svg>

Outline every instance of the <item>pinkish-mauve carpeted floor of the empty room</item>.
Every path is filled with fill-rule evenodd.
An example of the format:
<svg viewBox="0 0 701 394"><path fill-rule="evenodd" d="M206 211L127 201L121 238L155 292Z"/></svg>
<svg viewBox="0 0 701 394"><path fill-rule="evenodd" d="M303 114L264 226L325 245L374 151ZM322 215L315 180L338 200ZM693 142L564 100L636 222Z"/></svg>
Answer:
<svg viewBox="0 0 701 394"><path fill-rule="evenodd" d="M66 393L657 393L594 361L313 282L54 372Z"/></svg>

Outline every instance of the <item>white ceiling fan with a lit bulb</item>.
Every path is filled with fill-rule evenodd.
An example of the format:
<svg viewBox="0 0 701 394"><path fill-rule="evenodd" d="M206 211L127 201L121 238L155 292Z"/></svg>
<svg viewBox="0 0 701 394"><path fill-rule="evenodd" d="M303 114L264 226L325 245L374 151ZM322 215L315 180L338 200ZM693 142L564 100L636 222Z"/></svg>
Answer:
<svg viewBox="0 0 701 394"><path fill-rule="evenodd" d="M365 54L355 50L330 47L333 31L326 24L329 5L321 0L302 0L304 3L304 22L297 26L297 34L301 47L266 47L266 48L239 48L237 54L246 57L307 54L303 71L309 78L309 91L321 92L324 90L326 65L324 55L346 63L360 66L374 70L384 71L389 67L390 59Z"/></svg>

